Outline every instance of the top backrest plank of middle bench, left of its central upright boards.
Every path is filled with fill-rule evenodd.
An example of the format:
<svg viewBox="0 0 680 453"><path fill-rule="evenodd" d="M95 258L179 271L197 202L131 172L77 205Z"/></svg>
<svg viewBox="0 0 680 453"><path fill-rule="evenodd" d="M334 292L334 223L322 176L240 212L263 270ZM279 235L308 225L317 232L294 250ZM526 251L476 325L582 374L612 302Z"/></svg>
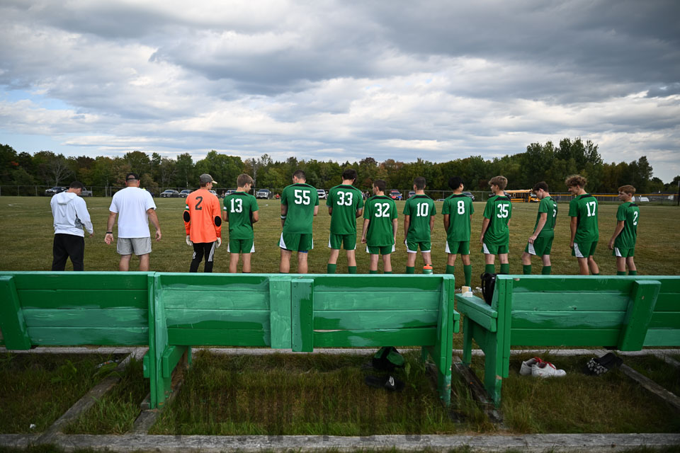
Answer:
<svg viewBox="0 0 680 453"><path fill-rule="evenodd" d="M268 292L268 275L158 273L166 290Z"/></svg>

